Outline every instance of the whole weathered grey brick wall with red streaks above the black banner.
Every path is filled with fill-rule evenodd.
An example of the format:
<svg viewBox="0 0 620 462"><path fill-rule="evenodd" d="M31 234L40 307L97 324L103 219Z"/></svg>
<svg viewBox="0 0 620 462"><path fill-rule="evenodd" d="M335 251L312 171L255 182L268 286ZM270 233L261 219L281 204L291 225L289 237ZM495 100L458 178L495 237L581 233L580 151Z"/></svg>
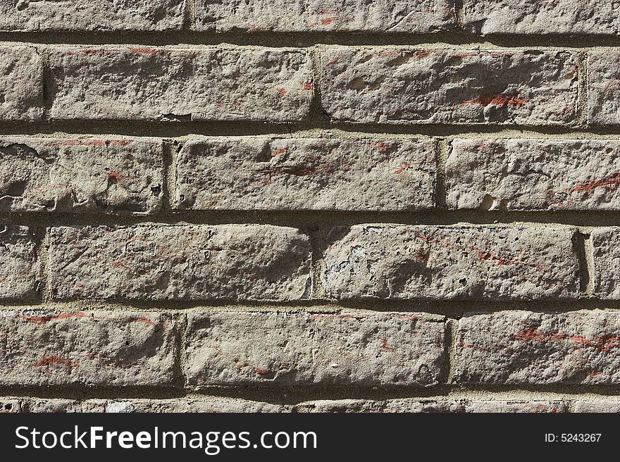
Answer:
<svg viewBox="0 0 620 462"><path fill-rule="evenodd" d="M619 12L5 1L0 409L619 411Z"/></svg>

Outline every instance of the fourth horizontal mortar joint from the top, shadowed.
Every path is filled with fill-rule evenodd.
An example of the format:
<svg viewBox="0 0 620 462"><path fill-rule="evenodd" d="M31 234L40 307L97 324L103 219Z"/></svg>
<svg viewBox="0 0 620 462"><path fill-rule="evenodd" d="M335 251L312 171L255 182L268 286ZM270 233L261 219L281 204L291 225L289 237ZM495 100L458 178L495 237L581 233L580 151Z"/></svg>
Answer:
<svg viewBox="0 0 620 462"><path fill-rule="evenodd" d="M105 311L123 314L133 311L186 315L190 313L214 313L220 311L260 311L290 313L423 313L431 316L459 320L472 313L491 314L501 311L531 311L533 313L571 313L581 310L620 310L620 300L594 298L540 299L540 300L443 300L423 299L360 299L330 301L314 299L306 301L227 301L227 300L137 300L137 299L58 299L52 301L0 301L4 311L49 311L70 313L75 311ZM440 321L438 317L436 320Z"/></svg>

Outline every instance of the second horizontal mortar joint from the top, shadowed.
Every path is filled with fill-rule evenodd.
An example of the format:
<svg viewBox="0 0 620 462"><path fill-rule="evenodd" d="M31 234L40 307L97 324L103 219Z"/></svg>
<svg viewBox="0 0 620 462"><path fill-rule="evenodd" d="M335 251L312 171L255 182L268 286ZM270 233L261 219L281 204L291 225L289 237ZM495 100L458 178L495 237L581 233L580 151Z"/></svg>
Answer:
<svg viewBox="0 0 620 462"><path fill-rule="evenodd" d="M526 126L485 124L345 123L307 120L275 122L183 122L146 120L49 120L38 122L0 121L4 137L113 136L187 139L190 137L517 137L517 138L605 138L620 139L620 125L606 127Z"/></svg>

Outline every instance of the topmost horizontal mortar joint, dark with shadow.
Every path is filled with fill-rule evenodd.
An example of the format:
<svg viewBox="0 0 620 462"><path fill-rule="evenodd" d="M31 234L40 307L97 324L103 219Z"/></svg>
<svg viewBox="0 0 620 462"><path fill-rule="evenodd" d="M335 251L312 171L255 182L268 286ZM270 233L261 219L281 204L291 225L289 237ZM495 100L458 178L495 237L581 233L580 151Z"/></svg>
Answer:
<svg viewBox="0 0 620 462"><path fill-rule="evenodd" d="M459 30L431 34L402 32L197 32L182 31L41 31L0 32L0 42L41 45L219 45L310 47L343 46L558 47L588 49L620 46L619 35L476 35Z"/></svg>

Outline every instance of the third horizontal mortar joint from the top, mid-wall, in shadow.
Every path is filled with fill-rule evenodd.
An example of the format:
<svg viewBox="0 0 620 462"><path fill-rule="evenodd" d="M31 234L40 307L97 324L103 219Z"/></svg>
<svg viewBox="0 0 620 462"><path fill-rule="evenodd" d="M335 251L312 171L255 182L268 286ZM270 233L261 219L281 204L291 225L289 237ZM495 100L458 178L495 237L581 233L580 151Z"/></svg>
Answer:
<svg viewBox="0 0 620 462"><path fill-rule="evenodd" d="M276 225L304 232L353 225L605 227L620 224L620 211L179 211L155 215L0 213L0 223L36 228L62 226Z"/></svg>

